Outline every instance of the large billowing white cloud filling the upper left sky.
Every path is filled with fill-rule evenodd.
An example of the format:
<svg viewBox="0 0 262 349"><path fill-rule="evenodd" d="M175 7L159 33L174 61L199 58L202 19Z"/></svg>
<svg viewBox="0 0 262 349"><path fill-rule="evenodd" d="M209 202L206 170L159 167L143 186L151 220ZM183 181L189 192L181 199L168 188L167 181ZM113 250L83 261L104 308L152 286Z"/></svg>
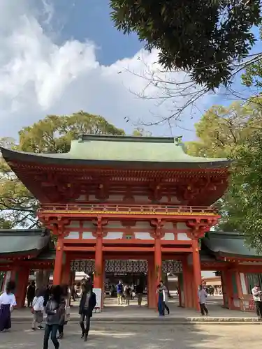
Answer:
<svg viewBox="0 0 262 349"><path fill-rule="evenodd" d="M143 74L145 62L155 68L157 52L138 52L135 57L101 66L96 60L95 44L88 40L54 43L50 31L45 30L54 8L48 0L42 0L42 10L34 8L34 4L32 0L0 0L1 136L16 137L22 126L45 114L85 110L131 131L131 121L148 121L152 114L170 113L171 103L157 107L155 101L142 100L129 91L143 90L147 82L136 74ZM135 74L119 74L125 68ZM184 77L182 73L176 75ZM125 117L131 119L128 125ZM156 135L170 135L167 126L153 131Z"/></svg>

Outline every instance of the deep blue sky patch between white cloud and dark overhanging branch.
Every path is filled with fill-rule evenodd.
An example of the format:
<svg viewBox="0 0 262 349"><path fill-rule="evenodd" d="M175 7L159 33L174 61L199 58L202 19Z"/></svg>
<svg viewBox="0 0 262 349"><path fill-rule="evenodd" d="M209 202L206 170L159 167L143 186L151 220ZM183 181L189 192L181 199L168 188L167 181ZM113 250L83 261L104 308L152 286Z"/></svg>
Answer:
<svg viewBox="0 0 262 349"><path fill-rule="evenodd" d="M61 39L92 40L97 46L97 59L110 65L119 59L133 57L143 47L135 34L124 36L110 20L109 1L57 0L54 8L60 13Z"/></svg>

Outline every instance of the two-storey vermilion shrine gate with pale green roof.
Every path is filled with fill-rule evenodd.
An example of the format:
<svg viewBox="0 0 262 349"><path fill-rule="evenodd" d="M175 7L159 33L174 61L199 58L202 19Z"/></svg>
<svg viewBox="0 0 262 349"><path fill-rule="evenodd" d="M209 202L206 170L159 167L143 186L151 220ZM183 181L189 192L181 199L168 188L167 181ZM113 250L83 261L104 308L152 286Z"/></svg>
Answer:
<svg viewBox="0 0 262 349"><path fill-rule="evenodd" d="M1 152L57 236L54 284L88 261L103 290L108 260L143 260L150 308L165 265L187 285L184 306L198 308L198 240L217 224L228 160L189 156L174 138L110 135L82 135L65 154Z"/></svg>

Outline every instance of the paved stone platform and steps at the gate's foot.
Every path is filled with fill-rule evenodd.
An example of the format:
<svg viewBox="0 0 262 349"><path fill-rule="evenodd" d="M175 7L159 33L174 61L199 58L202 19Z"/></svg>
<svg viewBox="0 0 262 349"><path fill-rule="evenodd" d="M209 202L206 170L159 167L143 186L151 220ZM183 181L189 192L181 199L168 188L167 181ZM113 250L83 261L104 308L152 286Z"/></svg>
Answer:
<svg viewBox="0 0 262 349"><path fill-rule="evenodd" d="M208 309L210 311L210 316L208 318L203 318L200 313L194 311L194 309L184 309L178 307L178 299L175 297L168 301L168 306L170 307L170 315L166 316L165 321L178 321L183 322L186 320L199 321L240 321L240 320L257 320L256 314L252 312L242 312L242 311L229 311L221 306L221 297L209 297L208 299ZM78 321L78 304L79 302L73 302L71 307L71 321ZM144 303L145 304L145 303ZM14 311L12 314L14 321L31 321L31 312L29 309L20 309ZM101 313L94 313L94 321L117 321L117 322L137 322L137 321L158 321L159 317L157 311L148 309L147 306L138 307L136 300L131 301L130 306L117 306L117 300L106 299L105 307Z"/></svg>

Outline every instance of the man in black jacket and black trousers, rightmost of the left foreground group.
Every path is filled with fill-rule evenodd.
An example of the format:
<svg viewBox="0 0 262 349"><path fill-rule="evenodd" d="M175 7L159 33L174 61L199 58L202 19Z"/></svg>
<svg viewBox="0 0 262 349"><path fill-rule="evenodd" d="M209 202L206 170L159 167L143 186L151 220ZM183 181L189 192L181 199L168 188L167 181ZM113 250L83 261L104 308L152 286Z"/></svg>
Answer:
<svg viewBox="0 0 262 349"><path fill-rule="evenodd" d="M94 307L96 306L96 294L93 292L92 284L85 283L83 287L84 292L82 292L82 298L80 300L79 313L81 315L80 318L80 327L82 329L82 337L85 337L85 341L87 341L87 336L90 329L90 318L92 318L92 313ZM84 322L86 320L86 327Z"/></svg>

